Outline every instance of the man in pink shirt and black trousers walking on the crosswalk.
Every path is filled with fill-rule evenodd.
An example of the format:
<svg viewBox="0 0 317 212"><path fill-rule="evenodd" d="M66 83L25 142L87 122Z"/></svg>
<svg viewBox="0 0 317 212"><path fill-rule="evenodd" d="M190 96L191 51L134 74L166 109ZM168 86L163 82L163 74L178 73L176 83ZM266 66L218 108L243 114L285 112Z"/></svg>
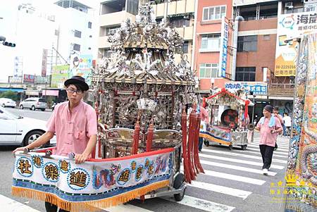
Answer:
<svg viewBox="0 0 317 212"><path fill-rule="evenodd" d="M273 150L278 138L278 133L282 132L282 125L280 120L272 116L273 107L271 105L266 105L263 108L263 115L259 120L258 125L255 129L260 130L260 151L263 160L263 175L268 175L268 169L272 163Z"/></svg>

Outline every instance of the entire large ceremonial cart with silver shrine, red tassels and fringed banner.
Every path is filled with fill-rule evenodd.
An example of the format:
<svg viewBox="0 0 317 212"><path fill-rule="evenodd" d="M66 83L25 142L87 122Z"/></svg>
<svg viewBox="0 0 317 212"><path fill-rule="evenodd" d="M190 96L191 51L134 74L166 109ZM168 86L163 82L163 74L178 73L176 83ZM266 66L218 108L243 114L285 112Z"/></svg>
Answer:
<svg viewBox="0 0 317 212"><path fill-rule="evenodd" d="M185 105L194 101L195 80L178 32L164 19L157 24L144 4L136 23L126 20L108 41L113 54L92 77L98 120L93 158L75 164L72 154L55 156L54 149L53 155L45 149L16 154L13 194L71 211L163 195L180 201L186 182L204 172L195 106L187 127Z"/></svg>

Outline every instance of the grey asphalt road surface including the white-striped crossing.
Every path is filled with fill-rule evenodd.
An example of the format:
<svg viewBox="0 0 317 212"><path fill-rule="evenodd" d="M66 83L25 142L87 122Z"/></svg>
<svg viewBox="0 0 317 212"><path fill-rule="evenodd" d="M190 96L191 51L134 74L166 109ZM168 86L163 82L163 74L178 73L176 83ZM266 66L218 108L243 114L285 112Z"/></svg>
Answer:
<svg viewBox="0 0 317 212"><path fill-rule="evenodd" d="M48 120L51 116L51 111L8 110L20 116L42 120ZM280 146L278 151L274 152L271 175L268 176L261 174L258 134L255 136L254 143L250 144L246 151L242 151L240 148L229 151L228 146L204 146L199 157L206 173L199 175L197 181L187 186L183 201L175 202L168 197L166 199L147 199L144 203L135 200L130 201L127 205L107 209L107 211L284 211L282 202L273 202L273 197L280 196L271 193L271 183L285 182L287 143L287 138L278 138ZM44 203L41 201L11 195L11 173L14 163L12 150L14 148L0 147L0 194L22 204L26 203L27 206L37 211L45 211Z"/></svg>

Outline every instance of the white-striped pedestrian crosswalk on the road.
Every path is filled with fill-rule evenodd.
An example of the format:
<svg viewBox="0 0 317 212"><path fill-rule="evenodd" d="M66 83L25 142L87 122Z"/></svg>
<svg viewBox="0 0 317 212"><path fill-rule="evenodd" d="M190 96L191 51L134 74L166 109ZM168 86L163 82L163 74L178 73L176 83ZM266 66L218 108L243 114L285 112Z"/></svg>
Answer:
<svg viewBox="0 0 317 212"><path fill-rule="evenodd" d="M165 210L164 208L155 207L152 201L146 200L144 204L139 204L139 201L131 201L128 204L105 208L103 211L175 211L178 210L178 206L182 206L181 211L188 212L251 211L243 208L244 201L251 198L252 194L263 195L257 193L258 190L269 191L273 177L276 182L284 178L288 154L287 139L279 139L278 145L278 150L273 153L273 161L268 176L262 175L261 166L263 163L259 151L259 139L255 139L252 144L248 144L245 151L240 148L234 148L230 151L228 146L204 146L202 153L199 153L199 158L205 173L199 175L192 184L187 185L186 194L182 201L175 201L173 196L161 197L157 201L165 201L164 205L168 204L168 209ZM269 192L267 196L270 198ZM8 198L4 201L0 196L0 204L2 203L13 206L11 210L6 211L37 212L37 210L30 207L17 210L18 207L11 204Z"/></svg>

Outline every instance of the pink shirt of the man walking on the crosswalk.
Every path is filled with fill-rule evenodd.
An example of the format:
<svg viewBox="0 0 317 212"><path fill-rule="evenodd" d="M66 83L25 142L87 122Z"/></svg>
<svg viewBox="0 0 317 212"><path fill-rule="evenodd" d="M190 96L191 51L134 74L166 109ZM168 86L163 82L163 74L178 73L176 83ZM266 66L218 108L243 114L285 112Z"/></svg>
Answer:
<svg viewBox="0 0 317 212"><path fill-rule="evenodd" d="M271 133L271 130L278 130L282 125L280 125L280 120L277 117L275 117L275 126L268 127L269 121L269 118L265 118L263 125L260 122L256 125L260 128L260 145L275 146L278 133Z"/></svg>

